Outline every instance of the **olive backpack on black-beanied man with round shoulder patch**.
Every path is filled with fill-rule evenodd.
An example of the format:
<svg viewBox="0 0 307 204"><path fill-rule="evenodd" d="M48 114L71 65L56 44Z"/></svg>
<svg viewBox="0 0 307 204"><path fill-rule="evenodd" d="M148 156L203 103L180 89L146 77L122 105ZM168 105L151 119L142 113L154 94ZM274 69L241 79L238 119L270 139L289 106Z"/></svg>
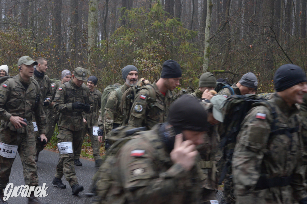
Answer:
<svg viewBox="0 0 307 204"><path fill-rule="evenodd" d="M149 88L148 86L152 87ZM128 124L130 110L134 101L135 95L140 91L142 88L146 88L149 91L149 100L155 101L156 100L156 90L151 84L146 86L130 86L123 94L120 103L120 110L122 112L122 126Z"/></svg>

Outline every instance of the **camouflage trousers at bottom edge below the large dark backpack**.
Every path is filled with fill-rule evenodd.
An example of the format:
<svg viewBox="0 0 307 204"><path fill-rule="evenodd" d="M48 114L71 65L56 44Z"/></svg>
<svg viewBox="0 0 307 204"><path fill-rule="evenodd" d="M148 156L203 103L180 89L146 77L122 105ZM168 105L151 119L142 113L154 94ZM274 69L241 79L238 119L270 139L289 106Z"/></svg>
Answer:
<svg viewBox="0 0 307 204"><path fill-rule="evenodd" d="M232 182L232 175L229 174L229 171L224 178L224 189L221 204L235 204L234 186Z"/></svg>

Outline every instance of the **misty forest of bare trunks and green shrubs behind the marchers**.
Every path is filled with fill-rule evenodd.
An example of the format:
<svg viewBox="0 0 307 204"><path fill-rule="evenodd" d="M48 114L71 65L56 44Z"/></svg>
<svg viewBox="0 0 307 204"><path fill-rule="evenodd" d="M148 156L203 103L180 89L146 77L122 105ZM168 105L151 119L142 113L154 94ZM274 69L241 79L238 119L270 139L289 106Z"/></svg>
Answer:
<svg viewBox="0 0 307 204"><path fill-rule="evenodd" d="M45 57L50 78L81 66L99 90L123 83L128 64L153 82L173 59L182 87L206 71L233 83L254 72L258 93L272 92L280 65L306 70L306 41L306 0L0 0L0 64L11 76L19 57Z"/></svg>

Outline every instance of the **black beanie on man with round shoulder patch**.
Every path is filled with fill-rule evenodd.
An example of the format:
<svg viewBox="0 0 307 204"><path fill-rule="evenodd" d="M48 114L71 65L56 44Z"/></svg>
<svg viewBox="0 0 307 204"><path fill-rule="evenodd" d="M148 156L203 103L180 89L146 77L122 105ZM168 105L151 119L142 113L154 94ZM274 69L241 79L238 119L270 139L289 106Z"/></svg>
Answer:
<svg viewBox="0 0 307 204"><path fill-rule="evenodd" d="M177 61L167 60L162 65L161 78L179 78L182 76L180 65Z"/></svg>

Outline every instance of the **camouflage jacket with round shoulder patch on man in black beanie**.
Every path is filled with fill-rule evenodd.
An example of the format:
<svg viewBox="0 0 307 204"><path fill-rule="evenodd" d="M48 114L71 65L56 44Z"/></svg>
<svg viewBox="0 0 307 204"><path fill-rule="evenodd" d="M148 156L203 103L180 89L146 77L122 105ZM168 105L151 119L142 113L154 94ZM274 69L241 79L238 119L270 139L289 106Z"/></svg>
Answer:
<svg viewBox="0 0 307 204"><path fill-rule="evenodd" d="M167 91L165 96L159 91L155 81L152 85L146 85L137 93L130 111L129 125L134 127L146 126L151 129L157 123L166 121L169 106L173 102L173 91ZM154 89L155 100L150 97L150 91Z"/></svg>

